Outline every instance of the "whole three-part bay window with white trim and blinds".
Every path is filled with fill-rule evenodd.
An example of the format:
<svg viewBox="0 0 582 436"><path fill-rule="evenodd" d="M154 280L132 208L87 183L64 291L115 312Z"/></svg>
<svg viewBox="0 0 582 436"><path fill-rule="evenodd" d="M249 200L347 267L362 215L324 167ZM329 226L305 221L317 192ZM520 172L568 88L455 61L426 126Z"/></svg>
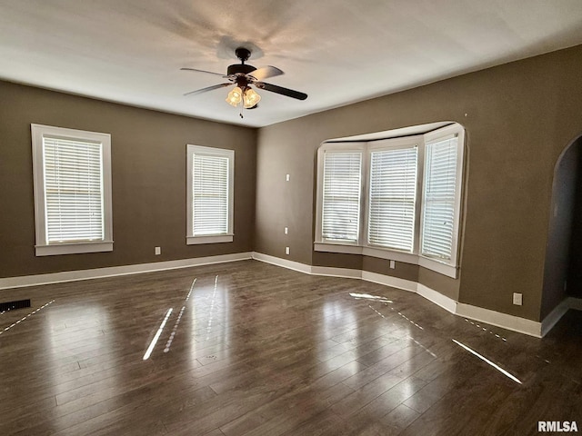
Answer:
<svg viewBox="0 0 582 436"><path fill-rule="evenodd" d="M457 277L464 130L449 124L426 134L406 131L320 147L315 249Z"/></svg>

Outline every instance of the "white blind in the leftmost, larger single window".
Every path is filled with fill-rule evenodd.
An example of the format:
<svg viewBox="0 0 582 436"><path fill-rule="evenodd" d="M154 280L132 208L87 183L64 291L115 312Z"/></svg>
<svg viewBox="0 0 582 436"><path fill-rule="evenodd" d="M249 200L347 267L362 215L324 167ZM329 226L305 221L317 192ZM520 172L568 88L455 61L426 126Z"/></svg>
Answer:
<svg viewBox="0 0 582 436"><path fill-rule="evenodd" d="M102 144L43 137L46 243L103 241Z"/></svg>

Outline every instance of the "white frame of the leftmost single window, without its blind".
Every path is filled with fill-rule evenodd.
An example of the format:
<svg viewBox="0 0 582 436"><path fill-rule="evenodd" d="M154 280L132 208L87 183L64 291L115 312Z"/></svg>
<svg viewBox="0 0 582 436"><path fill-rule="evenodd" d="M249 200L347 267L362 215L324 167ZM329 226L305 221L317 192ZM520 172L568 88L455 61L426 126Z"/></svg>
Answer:
<svg viewBox="0 0 582 436"><path fill-rule="evenodd" d="M113 208L111 186L111 135L84 130L30 124L33 151L33 187L35 197L35 255L50 256L75 253L113 251ZM49 243L46 232L44 138L53 137L78 142L101 144L103 240Z"/></svg>

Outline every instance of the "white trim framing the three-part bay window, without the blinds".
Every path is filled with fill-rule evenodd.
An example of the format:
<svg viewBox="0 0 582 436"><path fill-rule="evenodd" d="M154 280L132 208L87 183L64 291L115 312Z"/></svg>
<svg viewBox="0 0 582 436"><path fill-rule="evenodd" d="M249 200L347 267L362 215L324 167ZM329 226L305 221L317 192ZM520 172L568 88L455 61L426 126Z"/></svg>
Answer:
<svg viewBox="0 0 582 436"><path fill-rule="evenodd" d="M422 240L422 219L424 207L424 181L425 181L425 148L426 144L437 142L447 136L457 135L457 186L456 186L456 209L453 235L453 253L451 262L447 263L440 259L427 257L420 253ZM417 178L416 178L416 205L415 205L415 233L413 252L404 252L396 249L379 247L367 244L367 225L369 214L369 185L370 185L370 156L371 152L378 149L401 148L406 145L417 144ZM448 277L457 278L459 265L459 245L461 239L461 202L463 199L463 189L465 180L465 129L461 124L449 124L445 127L437 128L434 131L425 134L410 134L405 137L382 139L375 141L357 141L357 142L326 142L321 144L317 150L317 177L316 177L316 240L314 250L316 252L326 253L350 253L362 254L381 259L395 260L397 262L411 263L422 266L426 269L442 273ZM356 151L361 150L363 153L362 165L362 192L361 192L361 214L360 214L360 237L358 243L331 243L321 238L321 218L323 208L322 188L323 188L323 156L326 150Z"/></svg>

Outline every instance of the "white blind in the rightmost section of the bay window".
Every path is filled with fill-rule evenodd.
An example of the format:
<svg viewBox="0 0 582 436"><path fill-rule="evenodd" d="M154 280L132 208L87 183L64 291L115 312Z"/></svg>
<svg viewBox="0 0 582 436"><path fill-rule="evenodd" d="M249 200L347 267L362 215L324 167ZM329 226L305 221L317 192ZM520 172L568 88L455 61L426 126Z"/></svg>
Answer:
<svg viewBox="0 0 582 436"><path fill-rule="evenodd" d="M426 144L422 254L450 261L456 219L457 136Z"/></svg>

